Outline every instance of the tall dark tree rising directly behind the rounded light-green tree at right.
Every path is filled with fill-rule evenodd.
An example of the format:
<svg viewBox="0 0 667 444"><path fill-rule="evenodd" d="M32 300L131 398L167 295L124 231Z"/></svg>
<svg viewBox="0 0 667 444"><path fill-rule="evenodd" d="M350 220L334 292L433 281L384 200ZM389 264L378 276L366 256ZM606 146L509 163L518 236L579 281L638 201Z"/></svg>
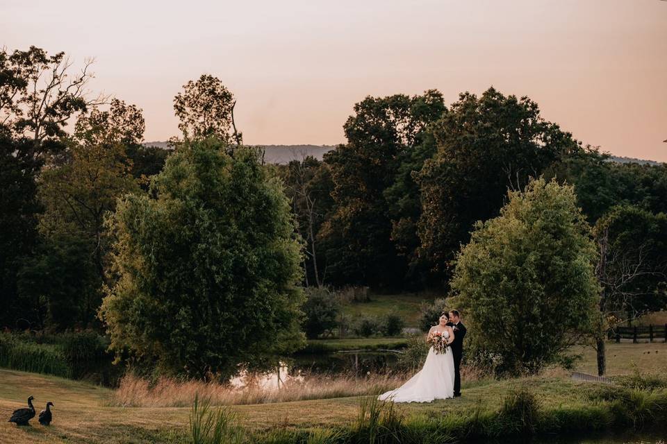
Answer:
<svg viewBox="0 0 667 444"><path fill-rule="evenodd" d="M436 154L418 177L420 255L447 278L472 224L496 216L508 189L522 189L577 144L541 117L537 103L493 87L461 94L434 135Z"/></svg>

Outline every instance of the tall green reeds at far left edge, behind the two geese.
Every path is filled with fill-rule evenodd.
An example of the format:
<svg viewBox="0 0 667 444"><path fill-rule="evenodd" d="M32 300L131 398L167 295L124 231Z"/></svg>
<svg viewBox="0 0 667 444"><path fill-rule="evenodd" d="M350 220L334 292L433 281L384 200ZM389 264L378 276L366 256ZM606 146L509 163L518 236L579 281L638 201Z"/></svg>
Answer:
<svg viewBox="0 0 667 444"><path fill-rule="evenodd" d="M104 336L91 331L61 334L0 333L0 367L72 377L76 364L110 359Z"/></svg>

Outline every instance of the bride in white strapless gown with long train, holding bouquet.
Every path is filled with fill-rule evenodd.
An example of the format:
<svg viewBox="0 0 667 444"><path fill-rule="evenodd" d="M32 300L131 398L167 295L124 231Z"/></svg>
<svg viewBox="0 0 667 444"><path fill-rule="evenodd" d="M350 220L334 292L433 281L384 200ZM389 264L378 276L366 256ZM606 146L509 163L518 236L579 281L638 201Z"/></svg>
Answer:
<svg viewBox="0 0 667 444"><path fill-rule="evenodd" d="M429 330L441 332L448 344L454 341L454 330L447 325L449 315L443 313L440 323ZM422 369L399 388L383 393L379 400L393 402L431 402L433 400L454 398L454 356L452 348L444 354L437 354L433 347Z"/></svg>

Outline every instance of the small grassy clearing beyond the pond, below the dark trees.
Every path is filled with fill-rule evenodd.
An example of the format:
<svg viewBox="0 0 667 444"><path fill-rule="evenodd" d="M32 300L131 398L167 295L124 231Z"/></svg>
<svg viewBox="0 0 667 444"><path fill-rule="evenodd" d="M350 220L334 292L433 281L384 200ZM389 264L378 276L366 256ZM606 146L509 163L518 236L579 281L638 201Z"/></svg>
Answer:
<svg viewBox="0 0 667 444"><path fill-rule="evenodd" d="M396 313L403 318L406 327L419 326L419 307L424 301L434 298L421 293L400 293L393 295L371 295L370 302L347 302L343 313L348 316L385 316Z"/></svg>

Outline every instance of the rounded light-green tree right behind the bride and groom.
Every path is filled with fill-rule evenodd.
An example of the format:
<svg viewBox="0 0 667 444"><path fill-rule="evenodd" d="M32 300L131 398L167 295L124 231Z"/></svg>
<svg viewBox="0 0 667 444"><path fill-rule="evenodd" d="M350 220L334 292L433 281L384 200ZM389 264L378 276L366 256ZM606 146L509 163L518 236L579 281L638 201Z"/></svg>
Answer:
<svg viewBox="0 0 667 444"><path fill-rule="evenodd" d="M600 287L591 228L573 187L534 180L478 223L452 289L479 357L500 374L535 374L593 330Z"/></svg>

